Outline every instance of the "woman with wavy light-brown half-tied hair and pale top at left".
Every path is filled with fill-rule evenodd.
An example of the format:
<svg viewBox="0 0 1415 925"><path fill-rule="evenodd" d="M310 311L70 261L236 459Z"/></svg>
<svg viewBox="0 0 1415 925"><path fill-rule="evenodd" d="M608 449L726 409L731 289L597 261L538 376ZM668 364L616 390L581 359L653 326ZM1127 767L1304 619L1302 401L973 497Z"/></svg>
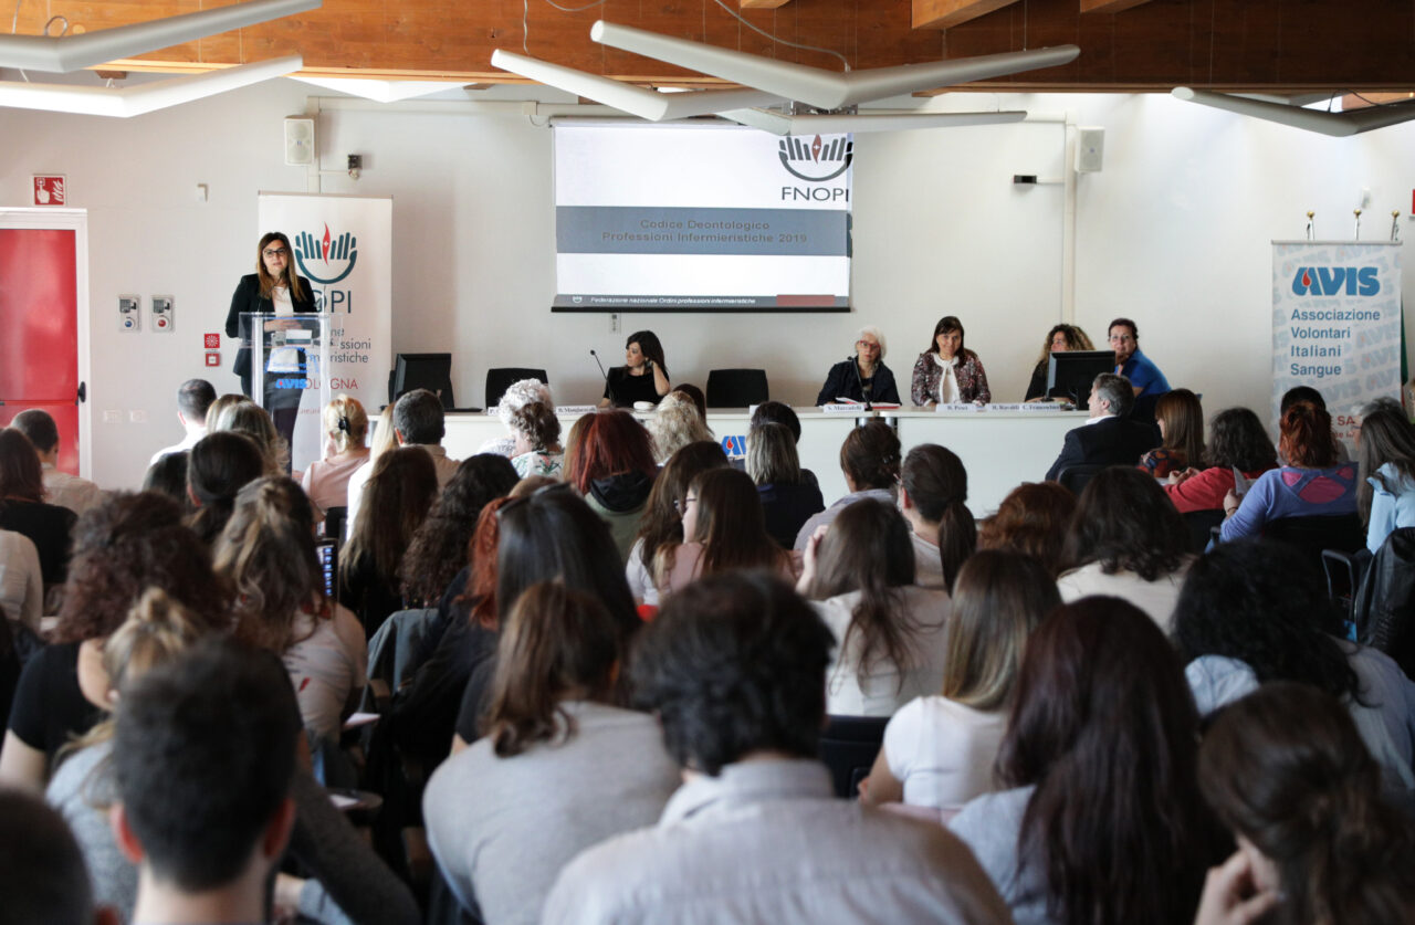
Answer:
<svg viewBox="0 0 1415 925"><path fill-rule="evenodd" d="M235 590L236 635L284 659L311 740L338 741L368 676L364 628L324 593L314 511L289 478L262 478L236 496L215 549Z"/></svg>

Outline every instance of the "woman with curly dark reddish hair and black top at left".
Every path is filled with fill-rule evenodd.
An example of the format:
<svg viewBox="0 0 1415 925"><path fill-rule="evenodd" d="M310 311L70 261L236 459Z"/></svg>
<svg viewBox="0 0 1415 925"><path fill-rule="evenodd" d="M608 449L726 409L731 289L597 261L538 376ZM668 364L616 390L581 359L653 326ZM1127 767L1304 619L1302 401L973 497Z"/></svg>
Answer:
<svg viewBox="0 0 1415 925"><path fill-rule="evenodd" d="M102 719L109 690L103 641L150 587L202 627L229 627L225 584L171 498L120 494L86 511L74 532L58 627L20 675L0 781L42 786L58 750Z"/></svg>

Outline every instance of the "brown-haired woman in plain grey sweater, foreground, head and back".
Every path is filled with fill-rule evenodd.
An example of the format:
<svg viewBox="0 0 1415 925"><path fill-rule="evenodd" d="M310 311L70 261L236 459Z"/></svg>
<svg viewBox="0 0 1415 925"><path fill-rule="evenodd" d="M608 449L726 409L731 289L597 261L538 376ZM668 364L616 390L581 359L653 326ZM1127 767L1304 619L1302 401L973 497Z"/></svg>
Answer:
<svg viewBox="0 0 1415 925"><path fill-rule="evenodd" d="M427 784L427 840L488 925L541 921L583 849L652 825L679 784L652 717L618 706L624 635L594 597L521 594L501 628L484 737Z"/></svg>

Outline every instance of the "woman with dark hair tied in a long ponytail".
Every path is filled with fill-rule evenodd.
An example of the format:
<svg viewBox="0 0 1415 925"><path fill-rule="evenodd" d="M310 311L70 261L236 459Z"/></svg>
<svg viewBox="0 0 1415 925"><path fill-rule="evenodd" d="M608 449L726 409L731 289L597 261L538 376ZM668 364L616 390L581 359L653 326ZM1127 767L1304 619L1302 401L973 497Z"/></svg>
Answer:
<svg viewBox="0 0 1415 925"><path fill-rule="evenodd" d="M899 509L908 520L918 584L952 591L958 569L978 547L968 471L958 454L935 443L910 450L900 468Z"/></svg>

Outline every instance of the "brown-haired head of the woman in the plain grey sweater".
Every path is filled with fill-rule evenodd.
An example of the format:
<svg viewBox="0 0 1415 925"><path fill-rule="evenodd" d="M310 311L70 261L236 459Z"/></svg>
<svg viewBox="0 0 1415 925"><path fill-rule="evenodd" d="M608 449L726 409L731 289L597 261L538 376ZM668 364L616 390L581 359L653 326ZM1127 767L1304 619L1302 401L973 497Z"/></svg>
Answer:
<svg viewBox="0 0 1415 925"><path fill-rule="evenodd" d="M608 702L623 634L604 605L558 581L526 588L501 628L481 731L509 758L576 733L563 700Z"/></svg>

